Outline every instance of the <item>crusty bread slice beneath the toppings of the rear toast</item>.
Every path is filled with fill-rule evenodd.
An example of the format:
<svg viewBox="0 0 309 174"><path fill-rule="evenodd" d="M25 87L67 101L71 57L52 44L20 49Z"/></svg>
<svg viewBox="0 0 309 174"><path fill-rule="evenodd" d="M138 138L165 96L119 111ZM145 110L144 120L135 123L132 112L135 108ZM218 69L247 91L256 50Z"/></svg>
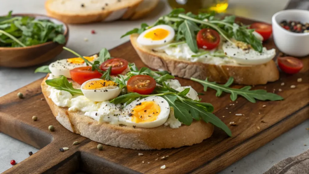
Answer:
<svg viewBox="0 0 309 174"><path fill-rule="evenodd" d="M260 85L279 79L279 71L273 60L260 65L215 65L200 62L190 62L173 58L166 53L140 46L137 43L138 34L130 35L130 41L142 61L153 69L166 70L172 75L190 79L191 77L225 83L230 77L234 83L243 85Z"/></svg>

